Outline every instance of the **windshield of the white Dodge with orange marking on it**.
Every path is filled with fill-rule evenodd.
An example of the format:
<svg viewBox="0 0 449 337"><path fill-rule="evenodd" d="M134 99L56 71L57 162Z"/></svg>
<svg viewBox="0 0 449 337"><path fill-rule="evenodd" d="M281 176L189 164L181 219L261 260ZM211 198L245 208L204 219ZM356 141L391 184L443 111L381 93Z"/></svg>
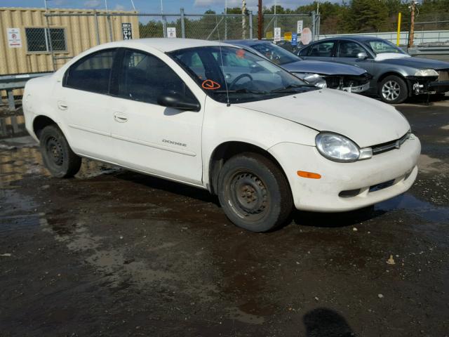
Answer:
<svg viewBox="0 0 449 337"><path fill-rule="evenodd" d="M168 53L214 100L246 103L316 90L281 67L241 48L207 46Z"/></svg>

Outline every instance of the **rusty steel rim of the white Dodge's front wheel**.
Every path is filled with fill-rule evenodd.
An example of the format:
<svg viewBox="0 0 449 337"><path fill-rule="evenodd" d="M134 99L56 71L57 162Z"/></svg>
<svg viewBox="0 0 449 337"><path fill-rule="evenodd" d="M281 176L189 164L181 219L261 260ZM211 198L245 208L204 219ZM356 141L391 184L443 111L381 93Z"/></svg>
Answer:
<svg viewBox="0 0 449 337"><path fill-rule="evenodd" d="M236 214L248 221L264 218L269 209L264 182L250 171L237 171L229 181L229 199Z"/></svg>

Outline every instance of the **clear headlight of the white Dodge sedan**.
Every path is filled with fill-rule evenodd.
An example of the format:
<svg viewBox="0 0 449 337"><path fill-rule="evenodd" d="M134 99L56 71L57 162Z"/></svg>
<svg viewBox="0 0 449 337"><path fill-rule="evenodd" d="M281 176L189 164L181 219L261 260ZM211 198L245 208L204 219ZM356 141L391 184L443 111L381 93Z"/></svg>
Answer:
<svg viewBox="0 0 449 337"><path fill-rule="evenodd" d="M373 157L370 147L359 149L352 140L337 133L319 133L315 143L321 155L332 161L351 162Z"/></svg>

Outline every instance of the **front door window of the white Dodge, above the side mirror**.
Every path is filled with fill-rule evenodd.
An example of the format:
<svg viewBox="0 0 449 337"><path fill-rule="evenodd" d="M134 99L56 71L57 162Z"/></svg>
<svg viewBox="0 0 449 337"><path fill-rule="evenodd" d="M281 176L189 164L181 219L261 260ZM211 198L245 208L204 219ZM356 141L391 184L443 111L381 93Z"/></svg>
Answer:
<svg viewBox="0 0 449 337"><path fill-rule="evenodd" d="M184 81L159 58L126 50L119 77L119 97L157 104L159 95L166 91L195 99Z"/></svg>

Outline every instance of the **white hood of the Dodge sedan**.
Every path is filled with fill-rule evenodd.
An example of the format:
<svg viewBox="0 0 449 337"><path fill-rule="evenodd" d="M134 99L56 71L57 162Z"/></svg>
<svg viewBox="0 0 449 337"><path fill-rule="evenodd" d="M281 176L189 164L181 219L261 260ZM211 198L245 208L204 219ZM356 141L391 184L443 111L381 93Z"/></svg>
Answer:
<svg viewBox="0 0 449 337"><path fill-rule="evenodd" d="M405 117L391 105L332 89L241 103L238 106L288 119L317 131L340 133L360 147L396 140L410 129Z"/></svg>

